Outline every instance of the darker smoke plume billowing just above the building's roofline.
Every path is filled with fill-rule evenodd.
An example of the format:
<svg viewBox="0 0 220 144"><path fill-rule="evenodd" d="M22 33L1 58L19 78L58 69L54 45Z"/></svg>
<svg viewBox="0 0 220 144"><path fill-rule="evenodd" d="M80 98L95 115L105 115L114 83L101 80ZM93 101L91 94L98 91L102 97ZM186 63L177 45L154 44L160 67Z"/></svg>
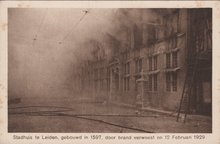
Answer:
<svg viewBox="0 0 220 144"><path fill-rule="evenodd" d="M86 38L81 35L83 38L77 44L79 47L76 48L77 52L75 52L79 61L92 60L92 51L97 51L97 49L103 50L105 57L110 59L115 51L134 47L132 46L132 38L134 37L135 27L139 30L137 33L140 35L143 32L144 24L156 25L161 23L158 21L160 14L156 9L126 8L110 9L110 11L111 14L108 17L103 17L104 23L95 24L96 28L91 27L89 31L86 31L89 33ZM99 43L98 47L97 43ZM83 50L85 47L87 49Z"/></svg>

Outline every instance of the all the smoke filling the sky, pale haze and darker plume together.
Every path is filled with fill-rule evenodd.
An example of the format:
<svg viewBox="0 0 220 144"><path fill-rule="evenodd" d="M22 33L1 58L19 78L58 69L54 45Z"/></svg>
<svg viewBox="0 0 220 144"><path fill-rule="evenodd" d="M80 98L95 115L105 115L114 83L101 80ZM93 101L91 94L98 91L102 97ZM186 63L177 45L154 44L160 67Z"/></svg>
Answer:
<svg viewBox="0 0 220 144"><path fill-rule="evenodd" d="M161 23L155 9L9 9L9 97L71 93L74 69L95 54L132 47L134 26Z"/></svg>

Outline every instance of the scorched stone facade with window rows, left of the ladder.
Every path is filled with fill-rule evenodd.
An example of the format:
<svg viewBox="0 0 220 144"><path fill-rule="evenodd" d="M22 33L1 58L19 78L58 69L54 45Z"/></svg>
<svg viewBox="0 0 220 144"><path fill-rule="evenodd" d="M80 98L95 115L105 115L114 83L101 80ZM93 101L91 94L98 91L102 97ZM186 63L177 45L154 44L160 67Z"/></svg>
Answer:
<svg viewBox="0 0 220 144"><path fill-rule="evenodd" d="M111 56L104 56L102 64L98 61L91 64L97 69L93 70L93 76L103 73L104 82L97 83L106 89L97 90L94 87L97 84L92 89L106 100L135 105L139 94L137 80L144 77L147 81L144 106L175 111L188 69L188 50L192 49L188 45L189 25L194 25L189 21L192 12L188 9L137 11L118 11L118 27L107 34L104 45ZM148 17L151 14L153 18Z"/></svg>

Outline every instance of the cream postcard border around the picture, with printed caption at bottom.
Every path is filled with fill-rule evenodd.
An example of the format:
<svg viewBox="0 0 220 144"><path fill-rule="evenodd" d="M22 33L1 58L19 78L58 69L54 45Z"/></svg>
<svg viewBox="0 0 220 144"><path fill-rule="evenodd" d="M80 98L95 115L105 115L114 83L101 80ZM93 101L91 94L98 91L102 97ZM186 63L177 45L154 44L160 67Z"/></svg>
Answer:
<svg viewBox="0 0 220 144"><path fill-rule="evenodd" d="M13 140L14 133L7 132L7 8L213 8L213 125L212 134L204 134L205 140L149 140L149 141L65 141L66 143L220 143L220 2L219 1L0 1L0 143L9 144L30 144L30 143L65 143L64 141L28 141ZM19 135L47 135L40 133L19 133ZM81 133L86 135L86 133ZM94 133L93 133L94 134ZM120 134L120 135L146 135L146 134ZM174 135L166 134L148 134L155 136ZM74 135L72 133L49 133L49 135ZM88 133L91 135L91 133ZM104 133L106 135L119 135L117 133ZM193 134L175 134L175 135L195 135Z"/></svg>

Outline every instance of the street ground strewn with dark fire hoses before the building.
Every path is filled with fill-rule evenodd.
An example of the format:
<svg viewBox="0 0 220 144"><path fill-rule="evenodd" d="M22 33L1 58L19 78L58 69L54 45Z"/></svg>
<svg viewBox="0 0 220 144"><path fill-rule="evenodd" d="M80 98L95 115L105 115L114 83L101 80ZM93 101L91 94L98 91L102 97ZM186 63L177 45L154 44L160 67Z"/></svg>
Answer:
<svg viewBox="0 0 220 144"><path fill-rule="evenodd" d="M211 118L176 122L176 117L137 111L102 101L23 99L9 105L9 132L210 133Z"/></svg>

